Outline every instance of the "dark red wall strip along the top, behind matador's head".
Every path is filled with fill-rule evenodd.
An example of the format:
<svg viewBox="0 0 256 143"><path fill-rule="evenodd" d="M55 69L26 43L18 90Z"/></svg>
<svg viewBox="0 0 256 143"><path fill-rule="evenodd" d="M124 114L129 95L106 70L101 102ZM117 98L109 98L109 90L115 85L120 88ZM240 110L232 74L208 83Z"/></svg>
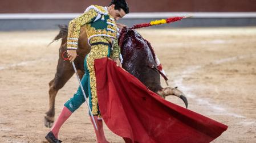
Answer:
<svg viewBox="0 0 256 143"><path fill-rule="evenodd" d="M1 0L0 13L83 12L110 0ZM256 12L256 0L127 0L131 12Z"/></svg>

